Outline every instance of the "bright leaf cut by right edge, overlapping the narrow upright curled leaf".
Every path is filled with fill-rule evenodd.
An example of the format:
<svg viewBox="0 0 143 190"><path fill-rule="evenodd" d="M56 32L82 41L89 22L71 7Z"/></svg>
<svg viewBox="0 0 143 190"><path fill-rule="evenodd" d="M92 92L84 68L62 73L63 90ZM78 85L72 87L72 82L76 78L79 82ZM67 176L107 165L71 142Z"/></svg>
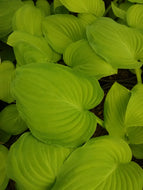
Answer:
<svg viewBox="0 0 143 190"><path fill-rule="evenodd" d="M131 90L131 98L126 110L125 124L128 127L143 127L143 84L138 84Z"/></svg>

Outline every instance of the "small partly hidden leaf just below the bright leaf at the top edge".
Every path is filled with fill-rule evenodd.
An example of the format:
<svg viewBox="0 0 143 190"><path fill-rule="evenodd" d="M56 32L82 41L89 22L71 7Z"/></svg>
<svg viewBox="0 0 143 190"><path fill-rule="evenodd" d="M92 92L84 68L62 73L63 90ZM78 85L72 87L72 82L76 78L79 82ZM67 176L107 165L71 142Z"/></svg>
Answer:
<svg viewBox="0 0 143 190"><path fill-rule="evenodd" d="M80 13L78 14L78 19L86 27L87 25L92 24L96 20L96 16L90 13Z"/></svg>

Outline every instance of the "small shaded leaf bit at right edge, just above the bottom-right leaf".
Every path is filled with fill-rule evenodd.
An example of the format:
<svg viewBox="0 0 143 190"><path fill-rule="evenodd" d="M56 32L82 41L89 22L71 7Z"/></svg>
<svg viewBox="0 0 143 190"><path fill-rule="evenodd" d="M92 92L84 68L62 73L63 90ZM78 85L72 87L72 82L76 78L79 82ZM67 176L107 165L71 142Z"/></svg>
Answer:
<svg viewBox="0 0 143 190"><path fill-rule="evenodd" d="M137 159L143 159L143 144L130 144L130 147Z"/></svg>

